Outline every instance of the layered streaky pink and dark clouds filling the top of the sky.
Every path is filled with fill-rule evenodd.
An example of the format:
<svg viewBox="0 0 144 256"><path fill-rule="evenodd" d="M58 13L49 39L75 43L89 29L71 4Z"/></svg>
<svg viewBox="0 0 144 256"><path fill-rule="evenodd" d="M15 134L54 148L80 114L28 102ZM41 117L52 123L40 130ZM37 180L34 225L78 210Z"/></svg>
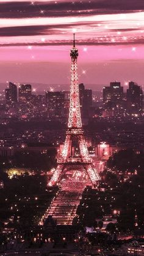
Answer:
<svg viewBox="0 0 144 256"><path fill-rule="evenodd" d="M69 45L74 31L79 45L143 43L143 0L7 0L0 10L3 46Z"/></svg>

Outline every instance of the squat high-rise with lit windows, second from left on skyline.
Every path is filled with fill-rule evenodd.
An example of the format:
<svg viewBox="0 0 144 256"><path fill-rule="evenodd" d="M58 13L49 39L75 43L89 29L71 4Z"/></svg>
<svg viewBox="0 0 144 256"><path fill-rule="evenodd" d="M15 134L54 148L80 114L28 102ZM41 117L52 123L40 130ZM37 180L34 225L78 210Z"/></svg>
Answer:
<svg viewBox="0 0 144 256"><path fill-rule="evenodd" d="M19 87L19 101L27 103L31 99L32 86L31 84L20 84Z"/></svg>

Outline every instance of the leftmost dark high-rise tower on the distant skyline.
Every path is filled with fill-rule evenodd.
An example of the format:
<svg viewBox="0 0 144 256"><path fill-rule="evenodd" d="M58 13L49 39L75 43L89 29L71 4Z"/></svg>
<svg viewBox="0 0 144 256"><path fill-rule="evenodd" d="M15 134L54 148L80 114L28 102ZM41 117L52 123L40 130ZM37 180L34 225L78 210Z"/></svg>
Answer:
<svg viewBox="0 0 144 256"><path fill-rule="evenodd" d="M5 89L6 104L13 104L17 102L17 87L12 82L9 82L9 88Z"/></svg>

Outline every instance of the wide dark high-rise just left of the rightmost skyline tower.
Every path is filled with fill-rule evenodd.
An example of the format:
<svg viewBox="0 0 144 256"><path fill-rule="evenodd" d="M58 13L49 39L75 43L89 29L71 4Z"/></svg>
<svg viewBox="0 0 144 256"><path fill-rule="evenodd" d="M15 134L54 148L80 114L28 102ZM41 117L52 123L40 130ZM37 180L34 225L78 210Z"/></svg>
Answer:
<svg viewBox="0 0 144 256"><path fill-rule="evenodd" d="M123 87L120 82L110 82L110 86L103 88L104 108L118 108L123 102Z"/></svg>

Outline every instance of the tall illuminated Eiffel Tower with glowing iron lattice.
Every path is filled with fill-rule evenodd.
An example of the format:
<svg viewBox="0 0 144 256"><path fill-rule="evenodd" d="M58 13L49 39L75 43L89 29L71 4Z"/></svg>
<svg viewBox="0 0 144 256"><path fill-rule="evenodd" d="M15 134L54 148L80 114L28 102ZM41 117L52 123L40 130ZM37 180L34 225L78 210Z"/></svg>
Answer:
<svg viewBox="0 0 144 256"><path fill-rule="evenodd" d="M97 181L101 178L92 158L90 158L87 145L85 143L84 131L82 130L81 109L79 103L79 83L77 72L77 57L78 50L75 46L75 39L73 40L73 48L70 51L71 56L71 86L70 86L70 109L68 117L68 130L66 132L65 144L63 146L62 156L57 158L57 168L51 177L48 185L52 186L59 182L60 177L68 170L84 171L92 185L95 186ZM79 155L73 155L72 145L77 142L79 147Z"/></svg>

